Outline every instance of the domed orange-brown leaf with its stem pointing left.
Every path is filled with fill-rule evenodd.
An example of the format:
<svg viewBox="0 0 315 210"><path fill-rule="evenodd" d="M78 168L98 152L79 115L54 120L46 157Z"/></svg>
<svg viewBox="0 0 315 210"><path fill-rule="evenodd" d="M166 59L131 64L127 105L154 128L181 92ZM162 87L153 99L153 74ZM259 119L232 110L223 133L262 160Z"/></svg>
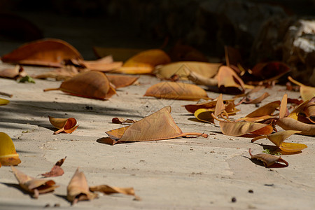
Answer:
<svg viewBox="0 0 315 210"><path fill-rule="evenodd" d="M116 90L109 83L106 75L99 71L86 71L65 80L59 88L49 88L44 91L62 90L78 97L92 99L109 99Z"/></svg>

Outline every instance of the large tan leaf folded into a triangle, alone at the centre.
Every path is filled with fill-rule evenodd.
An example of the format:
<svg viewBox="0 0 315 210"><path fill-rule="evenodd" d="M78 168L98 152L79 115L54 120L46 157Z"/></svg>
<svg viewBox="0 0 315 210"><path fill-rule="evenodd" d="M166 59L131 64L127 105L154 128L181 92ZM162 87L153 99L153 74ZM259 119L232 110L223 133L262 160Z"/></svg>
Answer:
<svg viewBox="0 0 315 210"><path fill-rule="evenodd" d="M135 141L156 141L164 139L174 139L186 136L202 136L207 138L207 134L197 132L185 132L176 125L171 116L171 106L165 106L146 118L136 123L106 132L107 138L100 139L99 142L105 144L117 144Z"/></svg>

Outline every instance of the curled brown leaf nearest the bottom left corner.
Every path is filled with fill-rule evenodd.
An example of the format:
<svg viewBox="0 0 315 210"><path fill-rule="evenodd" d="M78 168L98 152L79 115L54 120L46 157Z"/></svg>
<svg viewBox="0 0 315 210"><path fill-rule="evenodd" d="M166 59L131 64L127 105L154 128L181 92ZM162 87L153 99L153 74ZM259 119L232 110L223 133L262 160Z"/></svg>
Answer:
<svg viewBox="0 0 315 210"><path fill-rule="evenodd" d="M27 176L27 174L24 174L23 172L20 172L20 170L13 166L11 166L11 169L15 178L18 179L21 188L26 190L28 193L31 193L34 198L38 198L39 194L50 193L54 191L55 188L59 187L55 185L55 181L50 179L35 179L31 176Z"/></svg>

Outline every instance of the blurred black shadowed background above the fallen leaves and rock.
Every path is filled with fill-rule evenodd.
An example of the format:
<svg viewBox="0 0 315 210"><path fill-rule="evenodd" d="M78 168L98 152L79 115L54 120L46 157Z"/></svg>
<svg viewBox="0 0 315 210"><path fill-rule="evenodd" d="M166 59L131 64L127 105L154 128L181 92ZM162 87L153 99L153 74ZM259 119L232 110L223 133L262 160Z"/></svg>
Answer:
<svg viewBox="0 0 315 210"><path fill-rule="evenodd" d="M231 45L249 58L266 22L286 30L315 15L315 0L1 0L0 13L0 55L50 37L71 43L85 59L95 58L92 46L171 50L178 43L218 59ZM281 34L273 41L279 40ZM269 54L258 57L281 57Z"/></svg>

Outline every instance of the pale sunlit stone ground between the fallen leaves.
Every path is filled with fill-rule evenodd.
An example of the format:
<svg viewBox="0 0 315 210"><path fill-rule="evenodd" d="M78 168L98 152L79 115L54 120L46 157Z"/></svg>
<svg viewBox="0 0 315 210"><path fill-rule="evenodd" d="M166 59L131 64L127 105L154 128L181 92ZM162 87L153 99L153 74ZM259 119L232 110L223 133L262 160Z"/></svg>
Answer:
<svg viewBox="0 0 315 210"><path fill-rule="evenodd" d="M65 35L67 29L62 28L59 34ZM87 32L80 34L85 35L94 36ZM80 43L74 36L64 37L66 41L73 40L76 47L76 43ZM83 43L89 48L94 44ZM17 46L7 42L1 45L1 55ZM80 52L84 51L81 46L78 46ZM0 64L0 69L8 66ZM33 75L50 69L25 67L25 70ZM264 148L260 142L271 145L269 141L262 139L258 144L251 144L248 138L223 135L218 125L191 120L193 116L181 105L195 102L143 97L146 89L158 82L157 78L141 76L140 85L124 87L108 101L99 101L59 91L43 92L45 88L59 87L61 82L54 80L36 80L36 84L31 84L0 78L0 91L13 94L10 104L0 107L0 131L13 139L22 160L18 169L29 176L38 176L67 156L62 165L64 175L53 178L59 188L54 193L40 195L37 200L18 189L10 167L1 167L0 209L43 209L46 204L50 208L59 204L59 209L314 209L314 137L290 137L287 141L306 144L308 148L300 154L282 155L289 167L267 169L248 159L248 148L252 148L254 154L261 153ZM260 106L281 100L284 93L291 98L300 95L277 85L260 90L253 97L265 91L271 96ZM214 92L208 94L218 97ZM223 95L223 99L230 98L232 96ZM97 142L106 137L106 131L122 126L112 124L112 118L139 120L167 105L172 106L172 116L183 132L205 132L209 137L115 146ZM87 110L86 106L93 109ZM257 108L253 104L242 104L239 109L241 111L232 118L246 116ZM72 134L53 135L55 129L48 116L73 117L80 126ZM106 195L71 207L65 200L66 186L77 167L85 173L90 186L133 187L142 200ZM232 197L236 202L231 201Z"/></svg>

